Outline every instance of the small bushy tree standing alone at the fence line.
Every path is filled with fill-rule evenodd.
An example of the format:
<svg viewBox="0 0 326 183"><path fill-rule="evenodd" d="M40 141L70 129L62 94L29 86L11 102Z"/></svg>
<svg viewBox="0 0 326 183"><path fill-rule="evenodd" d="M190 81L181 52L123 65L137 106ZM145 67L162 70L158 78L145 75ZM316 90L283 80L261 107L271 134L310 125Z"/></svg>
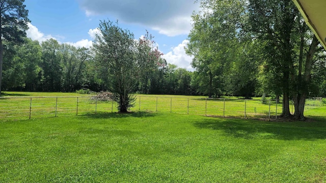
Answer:
<svg viewBox="0 0 326 183"><path fill-rule="evenodd" d="M113 99L120 112L127 112L134 105L131 94L137 83L134 36L119 27L118 22L103 20L99 24L101 34L96 35L94 50L99 63L107 68L111 79Z"/></svg>

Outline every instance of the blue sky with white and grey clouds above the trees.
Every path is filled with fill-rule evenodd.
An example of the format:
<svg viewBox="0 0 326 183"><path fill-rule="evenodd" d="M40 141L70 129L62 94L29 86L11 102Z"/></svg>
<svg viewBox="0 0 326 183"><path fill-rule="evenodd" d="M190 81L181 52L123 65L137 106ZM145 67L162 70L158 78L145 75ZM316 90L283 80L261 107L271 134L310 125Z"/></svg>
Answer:
<svg viewBox="0 0 326 183"><path fill-rule="evenodd" d="M184 52L191 30L191 14L199 11L193 0L25 0L31 24L28 37L40 42L90 47L99 21L119 20L138 39L146 29L155 38L168 63L193 70Z"/></svg>

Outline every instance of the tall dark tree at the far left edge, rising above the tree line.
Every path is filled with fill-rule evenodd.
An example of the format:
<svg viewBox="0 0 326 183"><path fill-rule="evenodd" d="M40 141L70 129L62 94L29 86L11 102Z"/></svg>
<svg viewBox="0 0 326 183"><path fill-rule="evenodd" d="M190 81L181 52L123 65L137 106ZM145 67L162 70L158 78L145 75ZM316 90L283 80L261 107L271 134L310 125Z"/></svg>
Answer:
<svg viewBox="0 0 326 183"><path fill-rule="evenodd" d="M1 0L0 1L0 96L2 85L3 67L3 41L23 42L25 30L28 29L27 23L28 10L23 4L24 0Z"/></svg>

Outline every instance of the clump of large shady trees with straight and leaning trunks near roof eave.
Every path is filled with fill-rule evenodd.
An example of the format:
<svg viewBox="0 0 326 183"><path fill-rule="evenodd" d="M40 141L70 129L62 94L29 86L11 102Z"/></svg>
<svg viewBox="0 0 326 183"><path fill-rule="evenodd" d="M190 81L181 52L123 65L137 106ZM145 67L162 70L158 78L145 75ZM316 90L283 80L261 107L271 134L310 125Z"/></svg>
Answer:
<svg viewBox="0 0 326 183"><path fill-rule="evenodd" d="M289 99L293 97L294 116L303 119L318 40L315 36L305 37L307 29L292 1L250 0L248 3L250 31L266 42L266 63L281 77L278 85L283 93L282 116L291 116Z"/></svg>

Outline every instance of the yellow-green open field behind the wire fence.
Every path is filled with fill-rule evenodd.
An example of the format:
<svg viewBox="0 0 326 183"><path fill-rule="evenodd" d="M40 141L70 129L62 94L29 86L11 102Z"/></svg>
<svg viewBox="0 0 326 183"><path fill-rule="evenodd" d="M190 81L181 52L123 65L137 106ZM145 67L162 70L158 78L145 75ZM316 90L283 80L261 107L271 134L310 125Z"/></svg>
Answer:
<svg viewBox="0 0 326 183"><path fill-rule="evenodd" d="M117 112L113 101L97 97L2 97L0 119L29 119L71 116L85 113ZM309 99L306 109L322 106L321 98ZM282 101L210 99L199 97L137 96L131 111L158 111L198 115L245 118L276 118L282 111ZM294 112L293 103L290 104Z"/></svg>

